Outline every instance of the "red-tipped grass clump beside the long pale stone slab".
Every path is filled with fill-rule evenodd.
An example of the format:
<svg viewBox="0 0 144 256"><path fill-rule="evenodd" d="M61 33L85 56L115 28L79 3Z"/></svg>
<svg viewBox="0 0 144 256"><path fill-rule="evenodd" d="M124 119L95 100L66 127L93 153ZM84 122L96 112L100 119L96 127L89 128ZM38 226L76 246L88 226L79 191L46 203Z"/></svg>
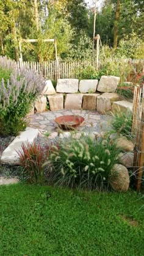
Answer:
<svg viewBox="0 0 144 256"><path fill-rule="evenodd" d="M40 145L23 144L17 152L20 156L20 166L23 167L23 174L31 183L43 184L45 181L45 167L43 164L49 155L49 148L42 148Z"/></svg>

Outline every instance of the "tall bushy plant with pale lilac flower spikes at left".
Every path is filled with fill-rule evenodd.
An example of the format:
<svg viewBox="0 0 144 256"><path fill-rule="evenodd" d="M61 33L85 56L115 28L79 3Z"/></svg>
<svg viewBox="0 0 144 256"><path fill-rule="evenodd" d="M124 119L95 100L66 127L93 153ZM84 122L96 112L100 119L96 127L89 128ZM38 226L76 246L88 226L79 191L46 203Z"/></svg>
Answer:
<svg viewBox="0 0 144 256"><path fill-rule="evenodd" d="M26 128L24 117L41 94L45 80L6 57L0 57L0 68L4 74L0 81L0 136L16 136Z"/></svg>

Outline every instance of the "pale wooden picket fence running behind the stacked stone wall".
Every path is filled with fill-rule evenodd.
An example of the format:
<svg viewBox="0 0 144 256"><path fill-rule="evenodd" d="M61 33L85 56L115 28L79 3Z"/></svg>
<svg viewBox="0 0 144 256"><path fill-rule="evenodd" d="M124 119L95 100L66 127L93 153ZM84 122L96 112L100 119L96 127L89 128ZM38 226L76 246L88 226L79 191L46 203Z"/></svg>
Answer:
<svg viewBox="0 0 144 256"><path fill-rule="evenodd" d="M118 59L114 59L117 61ZM107 62L113 61L113 59L100 60L98 63L98 70L101 70ZM144 66L144 59L124 59L124 62L129 62L134 67L132 73L129 76L129 81L134 79L135 73L142 71ZM50 60L46 62L18 62L20 67L26 67L27 69L34 69L38 74L42 73L46 79L57 80L58 78L77 78L77 72L81 68L85 68L92 65L96 68L96 61L92 60L74 60L71 62L65 62L62 60Z"/></svg>

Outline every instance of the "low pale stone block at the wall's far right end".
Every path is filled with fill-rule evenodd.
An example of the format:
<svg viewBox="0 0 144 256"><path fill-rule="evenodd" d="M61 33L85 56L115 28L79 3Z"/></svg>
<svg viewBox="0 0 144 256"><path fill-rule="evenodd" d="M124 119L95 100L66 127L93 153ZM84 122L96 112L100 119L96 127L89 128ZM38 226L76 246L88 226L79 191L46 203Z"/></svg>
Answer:
<svg viewBox="0 0 144 256"><path fill-rule="evenodd" d="M112 112L132 112L133 104L131 102L121 100L113 102Z"/></svg>

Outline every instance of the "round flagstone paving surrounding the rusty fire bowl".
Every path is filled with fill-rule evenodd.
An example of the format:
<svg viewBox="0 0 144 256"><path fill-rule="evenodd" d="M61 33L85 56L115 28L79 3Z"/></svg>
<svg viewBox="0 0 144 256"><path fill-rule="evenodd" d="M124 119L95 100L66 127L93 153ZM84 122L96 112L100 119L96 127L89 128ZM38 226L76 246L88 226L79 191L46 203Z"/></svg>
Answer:
<svg viewBox="0 0 144 256"><path fill-rule="evenodd" d="M110 129L110 115L102 115L96 111L87 110L60 110L60 111L47 111L41 114L29 115L29 126L32 128L38 128L39 130L45 130L49 132L57 131L59 127L54 120L56 117L62 115L80 115L84 117L85 121L78 128L80 131L106 131Z"/></svg>

